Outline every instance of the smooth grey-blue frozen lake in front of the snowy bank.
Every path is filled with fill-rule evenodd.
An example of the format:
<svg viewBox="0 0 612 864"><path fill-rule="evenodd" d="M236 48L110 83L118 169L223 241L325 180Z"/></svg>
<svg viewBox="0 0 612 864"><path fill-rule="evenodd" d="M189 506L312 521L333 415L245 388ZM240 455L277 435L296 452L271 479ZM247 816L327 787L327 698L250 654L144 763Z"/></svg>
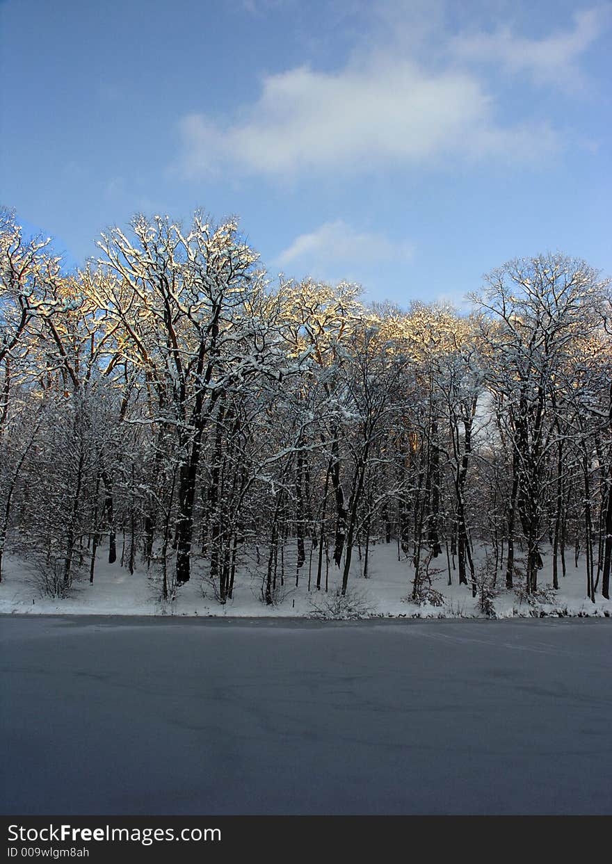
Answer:
<svg viewBox="0 0 612 864"><path fill-rule="evenodd" d="M612 622L0 619L4 814L612 812Z"/></svg>

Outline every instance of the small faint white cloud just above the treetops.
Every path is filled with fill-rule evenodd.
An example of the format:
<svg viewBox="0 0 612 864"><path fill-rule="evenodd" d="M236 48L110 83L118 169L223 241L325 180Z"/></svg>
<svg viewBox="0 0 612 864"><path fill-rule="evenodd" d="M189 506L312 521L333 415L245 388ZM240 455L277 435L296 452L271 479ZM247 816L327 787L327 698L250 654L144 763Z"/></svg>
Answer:
<svg viewBox="0 0 612 864"><path fill-rule="evenodd" d="M325 222L313 232L300 234L274 263L280 267L299 266L311 276L352 278L343 268L406 263L413 254L414 246L407 240L391 240L377 232L358 232L337 219Z"/></svg>

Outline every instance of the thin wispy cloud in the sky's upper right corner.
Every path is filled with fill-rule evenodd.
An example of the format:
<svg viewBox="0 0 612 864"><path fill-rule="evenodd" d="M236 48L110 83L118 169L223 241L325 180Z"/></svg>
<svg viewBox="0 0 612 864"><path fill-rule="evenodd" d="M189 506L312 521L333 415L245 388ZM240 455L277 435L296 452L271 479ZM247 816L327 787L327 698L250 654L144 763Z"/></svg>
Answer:
<svg viewBox="0 0 612 864"><path fill-rule="evenodd" d="M515 35L508 27L493 33L457 36L451 51L461 60L499 63L511 73L528 73L538 84L576 89L581 84L577 60L609 26L612 7L582 10L574 27L543 39Z"/></svg>

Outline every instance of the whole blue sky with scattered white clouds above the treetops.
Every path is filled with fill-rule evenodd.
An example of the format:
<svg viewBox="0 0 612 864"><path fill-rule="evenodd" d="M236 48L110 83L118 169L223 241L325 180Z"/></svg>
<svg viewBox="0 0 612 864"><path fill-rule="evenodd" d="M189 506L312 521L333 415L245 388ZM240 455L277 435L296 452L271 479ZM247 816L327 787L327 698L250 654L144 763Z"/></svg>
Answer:
<svg viewBox="0 0 612 864"><path fill-rule="evenodd" d="M460 302L540 251L612 273L612 3L0 0L0 200L77 264L237 215L271 274Z"/></svg>

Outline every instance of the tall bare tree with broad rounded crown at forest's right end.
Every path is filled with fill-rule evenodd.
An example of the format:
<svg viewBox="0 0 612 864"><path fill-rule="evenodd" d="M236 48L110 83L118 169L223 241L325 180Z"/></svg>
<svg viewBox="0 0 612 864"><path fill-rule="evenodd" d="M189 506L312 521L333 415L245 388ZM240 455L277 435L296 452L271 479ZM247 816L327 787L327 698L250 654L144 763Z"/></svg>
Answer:
<svg viewBox="0 0 612 864"><path fill-rule="evenodd" d="M582 260L543 255L494 270L475 295L488 315L481 329L487 384L512 450L513 498L527 546L527 592L537 587L547 463L558 442L555 381L571 361L577 340L590 333L602 292L598 279ZM510 525L513 530L512 519Z"/></svg>

